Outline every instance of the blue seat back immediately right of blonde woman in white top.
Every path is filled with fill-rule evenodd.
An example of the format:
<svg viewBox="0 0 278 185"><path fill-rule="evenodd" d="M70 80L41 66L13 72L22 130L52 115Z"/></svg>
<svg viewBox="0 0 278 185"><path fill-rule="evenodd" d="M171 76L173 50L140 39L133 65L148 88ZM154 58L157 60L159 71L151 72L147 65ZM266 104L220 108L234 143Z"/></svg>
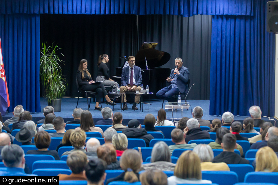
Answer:
<svg viewBox="0 0 278 185"><path fill-rule="evenodd" d="M202 171L202 178L219 185L233 185L238 182L234 171Z"/></svg>

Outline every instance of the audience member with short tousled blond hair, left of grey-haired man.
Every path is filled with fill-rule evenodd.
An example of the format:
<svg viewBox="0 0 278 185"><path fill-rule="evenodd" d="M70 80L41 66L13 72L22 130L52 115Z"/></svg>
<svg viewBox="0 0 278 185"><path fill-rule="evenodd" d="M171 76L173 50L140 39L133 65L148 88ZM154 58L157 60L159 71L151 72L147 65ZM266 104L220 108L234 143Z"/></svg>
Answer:
<svg viewBox="0 0 278 185"><path fill-rule="evenodd" d="M72 131L72 133L69 136L69 141L72 144L72 146L74 147L73 150L70 151L66 151L62 154L63 155L69 155L70 153L72 153L73 151L76 150L80 150L83 152L86 152L86 150L84 149L85 146L85 142L86 142L86 133L83 130L74 130Z"/></svg>

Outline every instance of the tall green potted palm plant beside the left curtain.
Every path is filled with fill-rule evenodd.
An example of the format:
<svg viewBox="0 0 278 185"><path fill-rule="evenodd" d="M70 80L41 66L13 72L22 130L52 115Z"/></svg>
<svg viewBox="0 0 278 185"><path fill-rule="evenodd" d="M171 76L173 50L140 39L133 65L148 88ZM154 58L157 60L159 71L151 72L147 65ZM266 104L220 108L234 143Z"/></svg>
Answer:
<svg viewBox="0 0 278 185"><path fill-rule="evenodd" d="M48 99L48 105L52 106L55 112L61 111L62 97L65 95L67 89L67 81L62 75L61 64L64 61L61 60L58 55L64 56L62 53L58 53L57 45L46 46L46 43L42 44L40 50L40 75L41 82L45 87L45 97Z"/></svg>

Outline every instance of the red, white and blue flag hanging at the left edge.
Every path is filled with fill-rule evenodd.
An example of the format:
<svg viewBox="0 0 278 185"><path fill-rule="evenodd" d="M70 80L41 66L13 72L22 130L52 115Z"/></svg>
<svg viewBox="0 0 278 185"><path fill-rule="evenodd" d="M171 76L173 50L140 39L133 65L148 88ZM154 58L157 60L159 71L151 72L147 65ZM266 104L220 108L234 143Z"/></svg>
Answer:
<svg viewBox="0 0 278 185"><path fill-rule="evenodd" d="M6 115L6 110L10 106L10 99L8 93L8 86L6 81L6 75L3 64L1 38L0 38L0 112L2 115Z"/></svg>

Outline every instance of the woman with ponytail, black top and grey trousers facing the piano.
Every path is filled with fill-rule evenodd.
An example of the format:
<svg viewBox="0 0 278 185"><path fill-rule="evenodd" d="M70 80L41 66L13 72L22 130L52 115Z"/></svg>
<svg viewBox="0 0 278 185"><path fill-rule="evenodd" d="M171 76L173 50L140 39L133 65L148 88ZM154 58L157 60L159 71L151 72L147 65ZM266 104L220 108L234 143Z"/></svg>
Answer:
<svg viewBox="0 0 278 185"><path fill-rule="evenodd" d="M114 80L112 80L108 75L109 69L105 64L108 62L108 55L103 54L98 57L98 76L96 77L96 82L103 82L105 86L110 86L111 89L116 89L118 83L114 82Z"/></svg>

